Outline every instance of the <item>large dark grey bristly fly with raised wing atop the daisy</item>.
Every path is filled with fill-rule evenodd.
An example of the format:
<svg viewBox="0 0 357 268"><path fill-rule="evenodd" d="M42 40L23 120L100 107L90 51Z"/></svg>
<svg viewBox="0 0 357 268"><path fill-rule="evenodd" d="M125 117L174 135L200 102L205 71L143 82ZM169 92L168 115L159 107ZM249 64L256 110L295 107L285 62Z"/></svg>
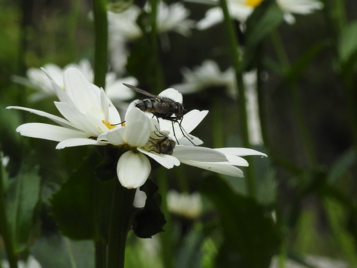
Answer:
<svg viewBox="0 0 357 268"><path fill-rule="evenodd" d="M184 118L184 113L186 110L184 109L184 106L179 103L175 102L174 100L167 98L165 96L157 96L154 94L151 94L143 89L137 88L135 86L125 84L123 83L124 86L129 87L130 89L141 93L145 96L150 97L150 99L144 99L144 100L139 100L135 103L135 107L139 108L143 112L148 112L154 114L157 118L162 118L165 120L169 120L172 123L172 129L173 129L173 136L175 137L177 144L179 144L179 141L176 138L175 134L175 129L173 127L173 123L179 124L180 130L183 134L184 137L186 137L193 145L194 144L186 131L182 128L181 126L181 121ZM174 116L172 116L174 115ZM158 119L159 121L159 119ZM186 135L185 135L186 133Z"/></svg>

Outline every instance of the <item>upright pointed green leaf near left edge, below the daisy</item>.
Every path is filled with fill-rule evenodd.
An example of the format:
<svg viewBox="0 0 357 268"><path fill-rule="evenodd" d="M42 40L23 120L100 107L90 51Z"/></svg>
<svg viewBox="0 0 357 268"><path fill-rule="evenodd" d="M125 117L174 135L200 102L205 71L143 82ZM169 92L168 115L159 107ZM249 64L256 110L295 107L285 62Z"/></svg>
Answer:
<svg viewBox="0 0 357 268"><path fill-rule="evenodd" d="M40 198L38 168L23 166L20 173L9 180L7 214L16 252L28 248L34 223L34 212Z"/></svg>

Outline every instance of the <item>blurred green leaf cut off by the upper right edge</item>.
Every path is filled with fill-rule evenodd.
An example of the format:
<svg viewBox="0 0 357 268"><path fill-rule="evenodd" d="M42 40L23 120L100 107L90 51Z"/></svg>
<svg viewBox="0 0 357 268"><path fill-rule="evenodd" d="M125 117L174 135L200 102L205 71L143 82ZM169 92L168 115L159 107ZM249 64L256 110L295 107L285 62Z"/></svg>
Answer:
<svg viewBox="0 0 357 268"><path fill-rule="evenodd" d="M347 63L357 53L357 21L352 22L343 31L338 44L340 62Z"/></svg>

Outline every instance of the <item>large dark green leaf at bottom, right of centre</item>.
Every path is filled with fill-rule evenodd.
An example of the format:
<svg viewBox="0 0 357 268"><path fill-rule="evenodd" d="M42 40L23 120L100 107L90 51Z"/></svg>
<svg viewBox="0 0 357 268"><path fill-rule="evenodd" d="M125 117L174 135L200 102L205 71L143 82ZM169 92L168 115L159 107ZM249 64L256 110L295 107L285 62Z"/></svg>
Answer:
<svg viewBox="0 0 357 268"><path fill-rule="evenodd" d="M234 193L217 176L206 180L203 193L215 204L224 235L217 267L268 267L280 244L271 213L254 199Z"/></svg>

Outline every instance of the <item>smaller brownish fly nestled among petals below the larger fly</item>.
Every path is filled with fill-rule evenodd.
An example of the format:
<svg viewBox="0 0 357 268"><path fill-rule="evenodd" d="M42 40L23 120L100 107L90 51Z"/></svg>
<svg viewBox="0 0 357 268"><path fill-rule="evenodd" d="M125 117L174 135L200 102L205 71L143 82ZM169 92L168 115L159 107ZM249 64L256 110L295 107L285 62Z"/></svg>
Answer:
<svg viewBox="0 0 357 268"><path fill-rule="evenodd" d="M163 131L151 131L149 140L145 147L149 152L172 155L176 142L169 138Z"/></svg>

